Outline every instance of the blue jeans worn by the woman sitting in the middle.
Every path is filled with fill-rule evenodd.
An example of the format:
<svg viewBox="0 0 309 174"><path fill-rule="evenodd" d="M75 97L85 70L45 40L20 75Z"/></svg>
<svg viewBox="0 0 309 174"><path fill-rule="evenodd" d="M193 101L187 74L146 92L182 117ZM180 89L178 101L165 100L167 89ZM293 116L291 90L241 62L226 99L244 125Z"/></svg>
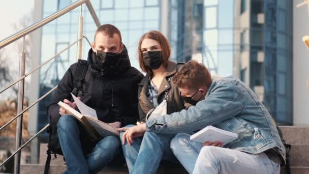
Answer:
<svg viewBox="0 0 309 174"><path fill-rule="evenodd" d="M128 125L126 127L132 127ZM120 139L125 132L120 133ZM156 173L161 160L177 162L170 148L171 139L175 134L156 134L146 131L143 137L133 139L132 146L122 144L130 173Z"/></svg>

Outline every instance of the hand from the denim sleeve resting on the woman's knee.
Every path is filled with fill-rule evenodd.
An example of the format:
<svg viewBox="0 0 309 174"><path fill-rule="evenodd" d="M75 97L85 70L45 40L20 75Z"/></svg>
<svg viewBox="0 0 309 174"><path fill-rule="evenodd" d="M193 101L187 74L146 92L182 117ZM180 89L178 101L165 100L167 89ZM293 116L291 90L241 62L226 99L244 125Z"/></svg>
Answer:
<svg viewBox="0 0 309 174"><path fill-rule="evenodd" d="M119 128L116 129L117 131L126 131L125 133L123 133L122 136L122 143L126 144L126 140L128 141L129 145L131 146L133 143L133 138L137 138L140 136L143 136L144 133L146 132L146 124L140 124L137 126L133 126L130 128Z"/></svg>

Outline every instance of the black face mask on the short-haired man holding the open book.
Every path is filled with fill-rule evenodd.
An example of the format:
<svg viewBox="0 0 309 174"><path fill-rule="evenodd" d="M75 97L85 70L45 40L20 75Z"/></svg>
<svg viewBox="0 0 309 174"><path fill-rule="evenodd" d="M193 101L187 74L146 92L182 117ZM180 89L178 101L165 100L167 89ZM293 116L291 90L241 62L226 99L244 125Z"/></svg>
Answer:
<svg viewBox="0 0 309 174"><path fill-rule="evenodd" d="M113 68L121 59L121 54L97 50L96 59L100 68Z"/></svg>

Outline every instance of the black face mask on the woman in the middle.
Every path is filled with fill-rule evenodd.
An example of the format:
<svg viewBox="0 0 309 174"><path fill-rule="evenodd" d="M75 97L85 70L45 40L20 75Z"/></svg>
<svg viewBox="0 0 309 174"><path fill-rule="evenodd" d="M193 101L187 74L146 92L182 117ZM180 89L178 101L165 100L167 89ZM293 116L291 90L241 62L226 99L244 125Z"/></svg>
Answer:
<svg viewBox="0 0 309 174"><path fill-rule="evenodd" d="M163 63L162 51L148 51L142 57L144 65L152 70L158 69Z"/></svg>

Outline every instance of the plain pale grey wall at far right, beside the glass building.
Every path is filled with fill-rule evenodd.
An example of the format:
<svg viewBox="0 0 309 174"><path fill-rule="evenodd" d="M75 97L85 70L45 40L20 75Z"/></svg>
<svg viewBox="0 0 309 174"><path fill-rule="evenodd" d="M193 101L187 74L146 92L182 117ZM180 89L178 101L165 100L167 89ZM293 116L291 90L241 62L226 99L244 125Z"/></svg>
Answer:
<svg viewBox="0 0 309 174"><path fill-rule="evenodd" d="M308 7L296 8L301 0L293 0L293 124L309 125L309 49L302 42L309 35Z"/></svg>

